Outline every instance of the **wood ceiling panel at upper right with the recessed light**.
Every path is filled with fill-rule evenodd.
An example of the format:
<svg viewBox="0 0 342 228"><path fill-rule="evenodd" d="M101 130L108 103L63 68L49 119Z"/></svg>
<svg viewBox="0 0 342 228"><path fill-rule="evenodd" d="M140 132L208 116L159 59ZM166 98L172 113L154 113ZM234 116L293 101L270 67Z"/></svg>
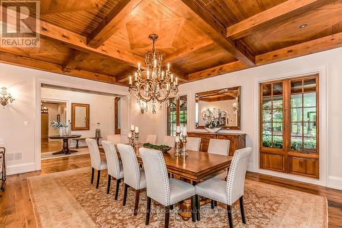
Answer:
<svg viewBox="0 0 342 228"><path fill-rule="evenodd" d="M301 25L306 25L300 28ZM259 55L342 31L342 1L276 23L242 38Z"/></svg>

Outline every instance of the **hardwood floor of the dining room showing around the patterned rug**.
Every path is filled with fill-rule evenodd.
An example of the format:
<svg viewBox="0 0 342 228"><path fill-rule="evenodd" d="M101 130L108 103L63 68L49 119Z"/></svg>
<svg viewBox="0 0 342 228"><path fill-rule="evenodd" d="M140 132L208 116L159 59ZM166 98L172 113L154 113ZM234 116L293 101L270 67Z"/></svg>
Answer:
<svg viewBox="0 0 342 228"><path fill-rule="evenodd" d="M8 176L5 192L0 192L0 227L36 227L29 198L27 177L90 166L89 155L42 161L42 170ZM327 197L329 227L342 227L342 191L278 177L247 173L247 179Z"/></svg>

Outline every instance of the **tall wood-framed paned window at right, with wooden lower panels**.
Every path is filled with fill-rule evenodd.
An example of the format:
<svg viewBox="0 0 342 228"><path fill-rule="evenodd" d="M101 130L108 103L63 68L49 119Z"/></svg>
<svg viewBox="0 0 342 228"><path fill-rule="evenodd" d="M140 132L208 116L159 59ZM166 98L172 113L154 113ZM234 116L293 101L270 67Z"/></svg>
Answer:
<svg viewBox="0 0 342 228"><path fill-rule="evenodd" d="M260 166L319 177L318 75L260 84Z"/></svg>

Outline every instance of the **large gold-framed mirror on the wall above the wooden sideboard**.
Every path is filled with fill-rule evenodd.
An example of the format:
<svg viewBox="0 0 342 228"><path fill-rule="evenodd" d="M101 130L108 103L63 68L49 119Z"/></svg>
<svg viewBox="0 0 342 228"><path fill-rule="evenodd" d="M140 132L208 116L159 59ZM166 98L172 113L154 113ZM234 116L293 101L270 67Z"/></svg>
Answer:
<svg viewBox="0 0 342 228"><path fill-rule="evenodd" d="M241 86L235 86L196 93L196 128L209 127L215 122L215 125L218 125L221 129L241 129L240 91ZM213 115L215 118L211 118Z"/></svg>

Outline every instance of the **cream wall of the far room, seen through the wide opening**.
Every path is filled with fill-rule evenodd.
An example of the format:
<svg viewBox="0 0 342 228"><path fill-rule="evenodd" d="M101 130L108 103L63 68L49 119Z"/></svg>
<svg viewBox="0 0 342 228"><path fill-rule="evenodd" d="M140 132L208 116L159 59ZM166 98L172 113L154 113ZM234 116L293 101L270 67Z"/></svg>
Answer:
<svg viewBox="0 0 342 228"><path fill-rule="evenodd" d="M84 103L90 106L90 129L83 131L72 131L73 134L81 135L81 138L94 137L95 129L101 129L103 140L109 134L114 134L114 99L115 97L90 94L85 92L75 92L67 90L57 90L53 88L41 88L40 96L43 100L62 99L68 101L70 110L66 119L71 122L71 103ZM55 118L55 117L54 117ZM99 125L98 125L99 123ZM57 131L53 131L56 133ZM51 134L51 132L49 132ZM70 147L75 146L75 140L70 140ZM84 140L79 141L79 146L86 146Z"/></svg>

